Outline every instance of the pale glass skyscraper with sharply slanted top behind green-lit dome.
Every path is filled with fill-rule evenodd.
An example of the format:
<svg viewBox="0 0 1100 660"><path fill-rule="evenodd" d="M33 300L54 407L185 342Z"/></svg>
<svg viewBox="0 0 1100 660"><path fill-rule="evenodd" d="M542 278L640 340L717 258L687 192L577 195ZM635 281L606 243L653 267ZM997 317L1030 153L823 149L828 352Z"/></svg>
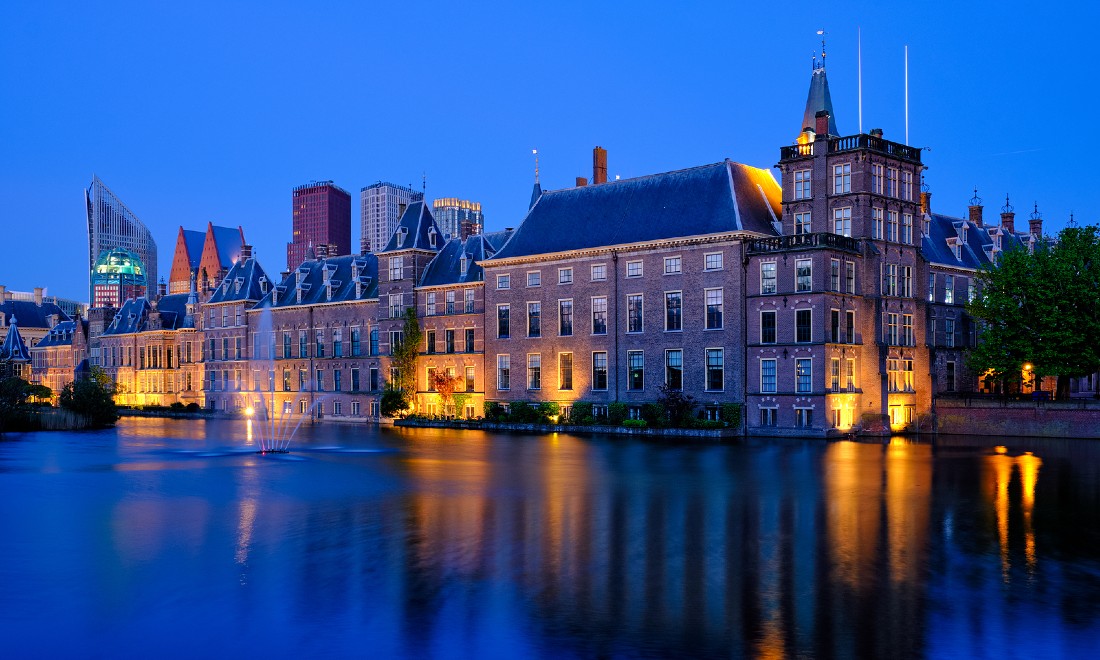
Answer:
<svg viewBox="0 0 1100 660"><path fill-rule="evenodd" d="M88 208L88 299L95 300L96 262L116 248L133 252L144 266L146 282L156 282L156 242L138 216L111 193L98 176L84 194Z"/></svg>

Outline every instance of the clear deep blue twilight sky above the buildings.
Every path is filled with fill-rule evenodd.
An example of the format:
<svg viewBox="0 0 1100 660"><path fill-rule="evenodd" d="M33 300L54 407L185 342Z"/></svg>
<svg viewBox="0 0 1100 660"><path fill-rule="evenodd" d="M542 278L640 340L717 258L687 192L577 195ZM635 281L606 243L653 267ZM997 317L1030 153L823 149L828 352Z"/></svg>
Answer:
<svg viewBox="0 0 1100 660"><path fill-rule="evenodd" d="M153 231L243 226L285 266L290 190L376 180L481 201L519 223L532 183L729 157L771 166L795 138L815 31L843 134L932 148L936 210L975 186L1018 222L1097 221L1097 2L12 2L0 10L0 284L82 299L92 174Z"/></svg>

